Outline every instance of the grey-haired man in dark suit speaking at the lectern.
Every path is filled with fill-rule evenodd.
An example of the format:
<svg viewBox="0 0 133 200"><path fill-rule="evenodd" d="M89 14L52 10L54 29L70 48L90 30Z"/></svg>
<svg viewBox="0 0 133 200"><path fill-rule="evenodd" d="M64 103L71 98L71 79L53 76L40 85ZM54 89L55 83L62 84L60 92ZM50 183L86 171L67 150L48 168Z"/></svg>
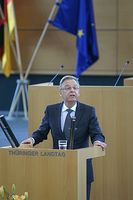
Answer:
<svg viewBox="0 0 133 200"><path fill-rule="evenodd" d="M74 76L64 76L60 81L59 92L63 98L62 103L47 106L45 116L39 128L33 132L32 137L24 140L22 143L31 143L36 145L47 139L49 131L53 138L53 148L58 149L59 140L68 140L70 137L64 133L65 120L68 110L75 116L74 143L73 148L85 148L89 146L89 138L92 144L106 147L105 138L100 129L95 108L78 101L79 82ZM68 127L70 129L70 127ZM93 181L93 169L91 159L87 160L87 200L90 197L91 182Z"/></svg>

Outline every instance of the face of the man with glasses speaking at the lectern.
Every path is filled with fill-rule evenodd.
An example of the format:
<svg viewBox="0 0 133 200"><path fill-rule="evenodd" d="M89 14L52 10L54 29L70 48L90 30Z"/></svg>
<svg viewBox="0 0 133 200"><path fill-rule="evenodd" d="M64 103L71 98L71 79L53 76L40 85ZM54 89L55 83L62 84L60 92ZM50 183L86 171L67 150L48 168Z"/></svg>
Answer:
<svg viewBox="0 0 133 200"><path fill-rule="evenodd" d="M60 88L60 95L66 105L75 104L79 97L79 85L73 79L65 80Z"/></svg>

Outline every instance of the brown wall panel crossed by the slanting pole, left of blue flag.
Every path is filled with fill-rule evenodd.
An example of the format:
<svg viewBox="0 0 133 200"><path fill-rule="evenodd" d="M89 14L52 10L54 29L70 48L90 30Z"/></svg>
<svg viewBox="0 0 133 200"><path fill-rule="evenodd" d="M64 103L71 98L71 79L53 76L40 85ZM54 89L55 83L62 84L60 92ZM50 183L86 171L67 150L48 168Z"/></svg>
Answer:
<svg viewBox="0 0 133 200"><path fill-rule="evenodd" d="M32 53L36 48L40 31L21 31L22 57L24 68L28 66ZM65 42L64 42L65 41ZM30 45L29 45L30 44ZM36 54L31 71L34 73L55 73L60 65L64 65L63 73L74 71L75 38L65 32L50 30L45 35L41 48ZM71 48L70 48L71 47Z"/></svg>

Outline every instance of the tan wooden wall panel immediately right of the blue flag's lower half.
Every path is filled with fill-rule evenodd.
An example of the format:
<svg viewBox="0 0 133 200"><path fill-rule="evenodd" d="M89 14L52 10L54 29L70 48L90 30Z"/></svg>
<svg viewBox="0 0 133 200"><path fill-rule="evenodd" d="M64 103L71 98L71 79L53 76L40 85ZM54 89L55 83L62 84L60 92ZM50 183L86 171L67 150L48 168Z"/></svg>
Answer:
<svg viewBox="0 0 133 200"><path fill-rule="evenodd" d="M116 31L98 31L99 60L91 67L88 72L93 74L114 74L117 66Z"/></svg>

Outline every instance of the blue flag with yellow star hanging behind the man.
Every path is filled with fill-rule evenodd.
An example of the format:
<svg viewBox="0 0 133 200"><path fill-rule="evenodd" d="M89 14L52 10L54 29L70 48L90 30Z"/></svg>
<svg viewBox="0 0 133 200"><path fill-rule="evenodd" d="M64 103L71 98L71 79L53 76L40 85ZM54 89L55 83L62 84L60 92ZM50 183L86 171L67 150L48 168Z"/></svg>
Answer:
<svg viewBox="0 0 133 200"><path fill-rule="evenodd" d="M92 0L62 0L50 23L76 36L76 76L79 77L99 58Z"/></svg>

